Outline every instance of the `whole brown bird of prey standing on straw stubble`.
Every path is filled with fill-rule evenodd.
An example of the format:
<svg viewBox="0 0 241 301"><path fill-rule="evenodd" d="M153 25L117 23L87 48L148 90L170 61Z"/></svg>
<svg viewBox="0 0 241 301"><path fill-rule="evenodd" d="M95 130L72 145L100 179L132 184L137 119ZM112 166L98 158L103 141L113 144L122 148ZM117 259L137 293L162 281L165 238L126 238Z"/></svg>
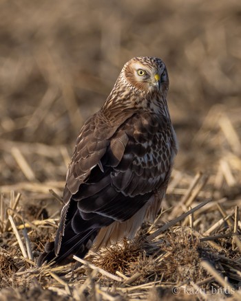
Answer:
<svg viewBox="0 0 241 301"><path fill-rule="evenodd" d="M125 63L101 109L83 125L67 169L55 241L37 265L74 262L92 248L132 239L154 221L178 142L167 106L169 77L160 58Z"/></svg>

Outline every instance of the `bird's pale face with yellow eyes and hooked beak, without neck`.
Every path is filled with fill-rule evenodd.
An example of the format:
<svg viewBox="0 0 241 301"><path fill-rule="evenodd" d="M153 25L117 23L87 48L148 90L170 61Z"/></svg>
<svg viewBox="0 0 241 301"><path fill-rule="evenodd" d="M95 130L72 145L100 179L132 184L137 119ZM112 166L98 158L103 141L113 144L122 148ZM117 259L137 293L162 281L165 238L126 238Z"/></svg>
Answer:
<svg viewBox="0 0 241 301"><path fill-rule="evenodd" d="M160 58L141 56L129 60L123 68L125 82L131 89L147 93L166 93L169 79Z"/></svg>

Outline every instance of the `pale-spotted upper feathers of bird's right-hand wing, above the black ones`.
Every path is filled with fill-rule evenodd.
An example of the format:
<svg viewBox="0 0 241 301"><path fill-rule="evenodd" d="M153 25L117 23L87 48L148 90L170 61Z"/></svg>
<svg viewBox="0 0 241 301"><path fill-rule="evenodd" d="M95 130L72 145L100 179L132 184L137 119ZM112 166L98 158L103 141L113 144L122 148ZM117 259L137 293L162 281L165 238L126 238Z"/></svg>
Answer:
<svg viewBox="0 0 241 301"><path fill-rule="evenodd" d="M147 194L165 181L174 156L171 124L165 117L143 113L123 124L128 143L120 163L113 167L112 185L129 197Z"/></svg>

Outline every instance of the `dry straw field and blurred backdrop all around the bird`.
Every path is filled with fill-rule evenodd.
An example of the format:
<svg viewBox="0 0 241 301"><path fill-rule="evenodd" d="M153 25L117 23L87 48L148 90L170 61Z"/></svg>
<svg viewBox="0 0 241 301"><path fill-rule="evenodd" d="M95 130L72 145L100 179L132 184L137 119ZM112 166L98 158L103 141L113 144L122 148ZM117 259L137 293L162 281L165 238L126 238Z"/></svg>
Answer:
<svg viewBox="0 0 241 301"><path fill-rule="evenodd" d="M240 1L1 1L0 14L0 299L240 300ZM163 58L171 82L180 151L163 212L74 273L37 269L78 130L139 55Z"/></svg>

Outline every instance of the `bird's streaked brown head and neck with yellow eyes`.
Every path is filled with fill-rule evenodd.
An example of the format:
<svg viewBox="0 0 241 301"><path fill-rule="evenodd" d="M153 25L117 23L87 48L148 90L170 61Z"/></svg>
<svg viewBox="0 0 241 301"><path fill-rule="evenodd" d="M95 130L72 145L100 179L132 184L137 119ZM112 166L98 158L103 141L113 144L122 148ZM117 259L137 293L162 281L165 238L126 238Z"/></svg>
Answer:
<svg viewBox="0 0 241 301"><path fill-rule="evenodd" d="M122 111L152 111L169 116L167 68L160 58L139 56L129 60L121 70L109 94L103 112L116 118ZM110 113L112 112L112 113Z"/></svg>

